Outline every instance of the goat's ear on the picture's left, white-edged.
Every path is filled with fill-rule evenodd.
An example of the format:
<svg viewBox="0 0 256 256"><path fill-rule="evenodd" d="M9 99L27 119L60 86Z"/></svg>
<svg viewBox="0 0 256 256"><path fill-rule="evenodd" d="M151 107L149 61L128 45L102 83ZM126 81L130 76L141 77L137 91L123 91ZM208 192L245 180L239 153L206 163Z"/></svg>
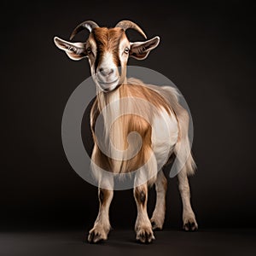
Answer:
<svg viewBox="0 0 256 256"><path fill-rule="evenodd" d="M68 57L73 61L79 61L87 56L84 43L70 43L61 38L54 38L55 44L59 49L65 50Z"/></svg>

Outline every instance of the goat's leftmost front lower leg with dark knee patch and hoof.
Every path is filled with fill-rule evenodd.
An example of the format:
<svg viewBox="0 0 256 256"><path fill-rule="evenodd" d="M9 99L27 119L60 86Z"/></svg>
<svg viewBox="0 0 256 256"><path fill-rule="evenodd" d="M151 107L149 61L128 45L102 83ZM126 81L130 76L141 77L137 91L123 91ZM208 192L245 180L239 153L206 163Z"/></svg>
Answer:
<svg viewBox="0 0 256 256"><path fill-rule="evenodd" d="M100 201L99 213L88 236L88 241L94 243L108 239L108 232L111 229L108 214L110 203L113 199L113 190L99 188L98 197Z"/></svg>

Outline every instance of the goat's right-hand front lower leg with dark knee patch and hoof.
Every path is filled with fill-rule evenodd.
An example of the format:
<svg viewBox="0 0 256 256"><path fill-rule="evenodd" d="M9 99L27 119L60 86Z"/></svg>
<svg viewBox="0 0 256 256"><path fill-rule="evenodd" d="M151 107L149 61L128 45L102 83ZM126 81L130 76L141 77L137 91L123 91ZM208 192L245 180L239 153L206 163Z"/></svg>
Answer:
<svg viewBox="0 0 256 256"><path fill-rule="evenodd" d="M154 240L154 233L147 212L148 184L134 188L134 197L137 203L136 239L143 243L151 242Z"/></svg>

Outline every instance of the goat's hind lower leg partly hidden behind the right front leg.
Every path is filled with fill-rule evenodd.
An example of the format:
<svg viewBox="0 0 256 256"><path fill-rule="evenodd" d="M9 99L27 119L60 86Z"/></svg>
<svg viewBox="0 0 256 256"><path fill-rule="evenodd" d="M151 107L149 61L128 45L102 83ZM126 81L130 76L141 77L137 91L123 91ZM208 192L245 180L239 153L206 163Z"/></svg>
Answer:
<svg viewBox="0 0 256 256"><path fill-rule="evenodd" d="M167 179L162 170L158 172L154 183L156 191L156 203L152 218L150 219L153 230L161 230L166 216L166 190Z"/></svg>

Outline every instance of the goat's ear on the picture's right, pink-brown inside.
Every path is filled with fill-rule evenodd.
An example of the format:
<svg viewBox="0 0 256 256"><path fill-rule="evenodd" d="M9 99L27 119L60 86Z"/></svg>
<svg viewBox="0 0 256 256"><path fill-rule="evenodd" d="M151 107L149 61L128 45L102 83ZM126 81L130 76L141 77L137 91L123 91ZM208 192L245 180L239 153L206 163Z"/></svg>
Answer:
<svg viewBox="0 0 256 256"><path fill-rule="evenodd" d="M159 42L160 37L155 37L145 42L130 43L130 56L137 60L144 60L147 58L151 49L157 47Z"/></svg>

